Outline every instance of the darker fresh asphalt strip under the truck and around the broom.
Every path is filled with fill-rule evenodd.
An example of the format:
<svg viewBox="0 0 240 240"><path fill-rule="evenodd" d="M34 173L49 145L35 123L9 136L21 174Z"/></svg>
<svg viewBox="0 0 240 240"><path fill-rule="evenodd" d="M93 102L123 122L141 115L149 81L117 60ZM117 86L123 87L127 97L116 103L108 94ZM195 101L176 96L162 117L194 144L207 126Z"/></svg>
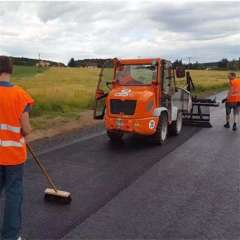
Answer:
<svg viewBox="0 0 240 240"><path fill-rule="evenodd" d="M47 182L35 163L28 161L24 236L27 239L63 237L198 130L186 128L181 136L171 137L162 147L134 137L116 146L100 134L40 155L58 185L72 193L69 206L43 201Z"/></svg>

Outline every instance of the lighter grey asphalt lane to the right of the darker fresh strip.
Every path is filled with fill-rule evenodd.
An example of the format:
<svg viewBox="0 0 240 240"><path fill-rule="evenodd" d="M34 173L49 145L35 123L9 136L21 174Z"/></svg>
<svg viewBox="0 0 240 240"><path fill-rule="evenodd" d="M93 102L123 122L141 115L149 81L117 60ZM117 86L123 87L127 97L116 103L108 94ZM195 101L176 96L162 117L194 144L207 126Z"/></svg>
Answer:
<svg viewBox="0 0 240 240"><path fill-rule="evenodd" d="M240 132L223 128L223 108L212 122L64 239L239 240Z"/></svg>

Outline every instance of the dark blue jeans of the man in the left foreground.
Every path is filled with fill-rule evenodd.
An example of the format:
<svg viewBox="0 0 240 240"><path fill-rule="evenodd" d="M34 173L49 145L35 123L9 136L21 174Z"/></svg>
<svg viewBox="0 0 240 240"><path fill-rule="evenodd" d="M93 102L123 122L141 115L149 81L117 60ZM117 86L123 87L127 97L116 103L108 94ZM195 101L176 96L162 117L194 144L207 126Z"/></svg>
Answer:
<svg viewBox="0 0 240 240"><path fill-rule="evenodd" d="M23 164L0 165L0 194L5 192L1 239L16 240L22 223ZM0 199L3 201L3 199Z"/></svg>

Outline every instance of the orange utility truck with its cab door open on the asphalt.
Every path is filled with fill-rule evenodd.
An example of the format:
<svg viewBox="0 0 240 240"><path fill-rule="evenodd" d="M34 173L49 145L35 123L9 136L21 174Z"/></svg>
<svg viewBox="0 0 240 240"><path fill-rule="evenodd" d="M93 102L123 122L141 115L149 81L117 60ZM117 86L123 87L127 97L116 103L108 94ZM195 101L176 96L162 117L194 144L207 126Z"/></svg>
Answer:
<svg viewBox="0 0 240 240"><path fill-rule="evenodd" d="M114 59L102 68L94 118L105 120L112 141L134 133L162 144L168 133L180 134L192 98L176 87L175 72L171 62L161 58ZM185 71L177 74L184 77Z"/></svg>

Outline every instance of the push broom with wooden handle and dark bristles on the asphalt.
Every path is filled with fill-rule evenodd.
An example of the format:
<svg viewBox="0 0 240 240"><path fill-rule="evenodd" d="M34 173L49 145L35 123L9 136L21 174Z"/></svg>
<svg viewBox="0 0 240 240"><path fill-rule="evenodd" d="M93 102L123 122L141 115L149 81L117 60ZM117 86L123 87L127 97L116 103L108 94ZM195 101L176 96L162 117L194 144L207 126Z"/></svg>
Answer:
<svg viewBox="0 0 240 240"><path fill-rule="evenodd" d="M52 187L52 188L47 188L45 190L45 197L44 197L45 200L59 202L59 203L63 203L63 204L69 204L72 201L71 193L58 190L56 185L54 184L52 178L48 174L47 169L37 158L36 154L34 153L32 147L29 144L27 144L27 149L31 153L33 159L35 160L35 162L41 169L43 175L47 178L48 183Z"/></svg>

